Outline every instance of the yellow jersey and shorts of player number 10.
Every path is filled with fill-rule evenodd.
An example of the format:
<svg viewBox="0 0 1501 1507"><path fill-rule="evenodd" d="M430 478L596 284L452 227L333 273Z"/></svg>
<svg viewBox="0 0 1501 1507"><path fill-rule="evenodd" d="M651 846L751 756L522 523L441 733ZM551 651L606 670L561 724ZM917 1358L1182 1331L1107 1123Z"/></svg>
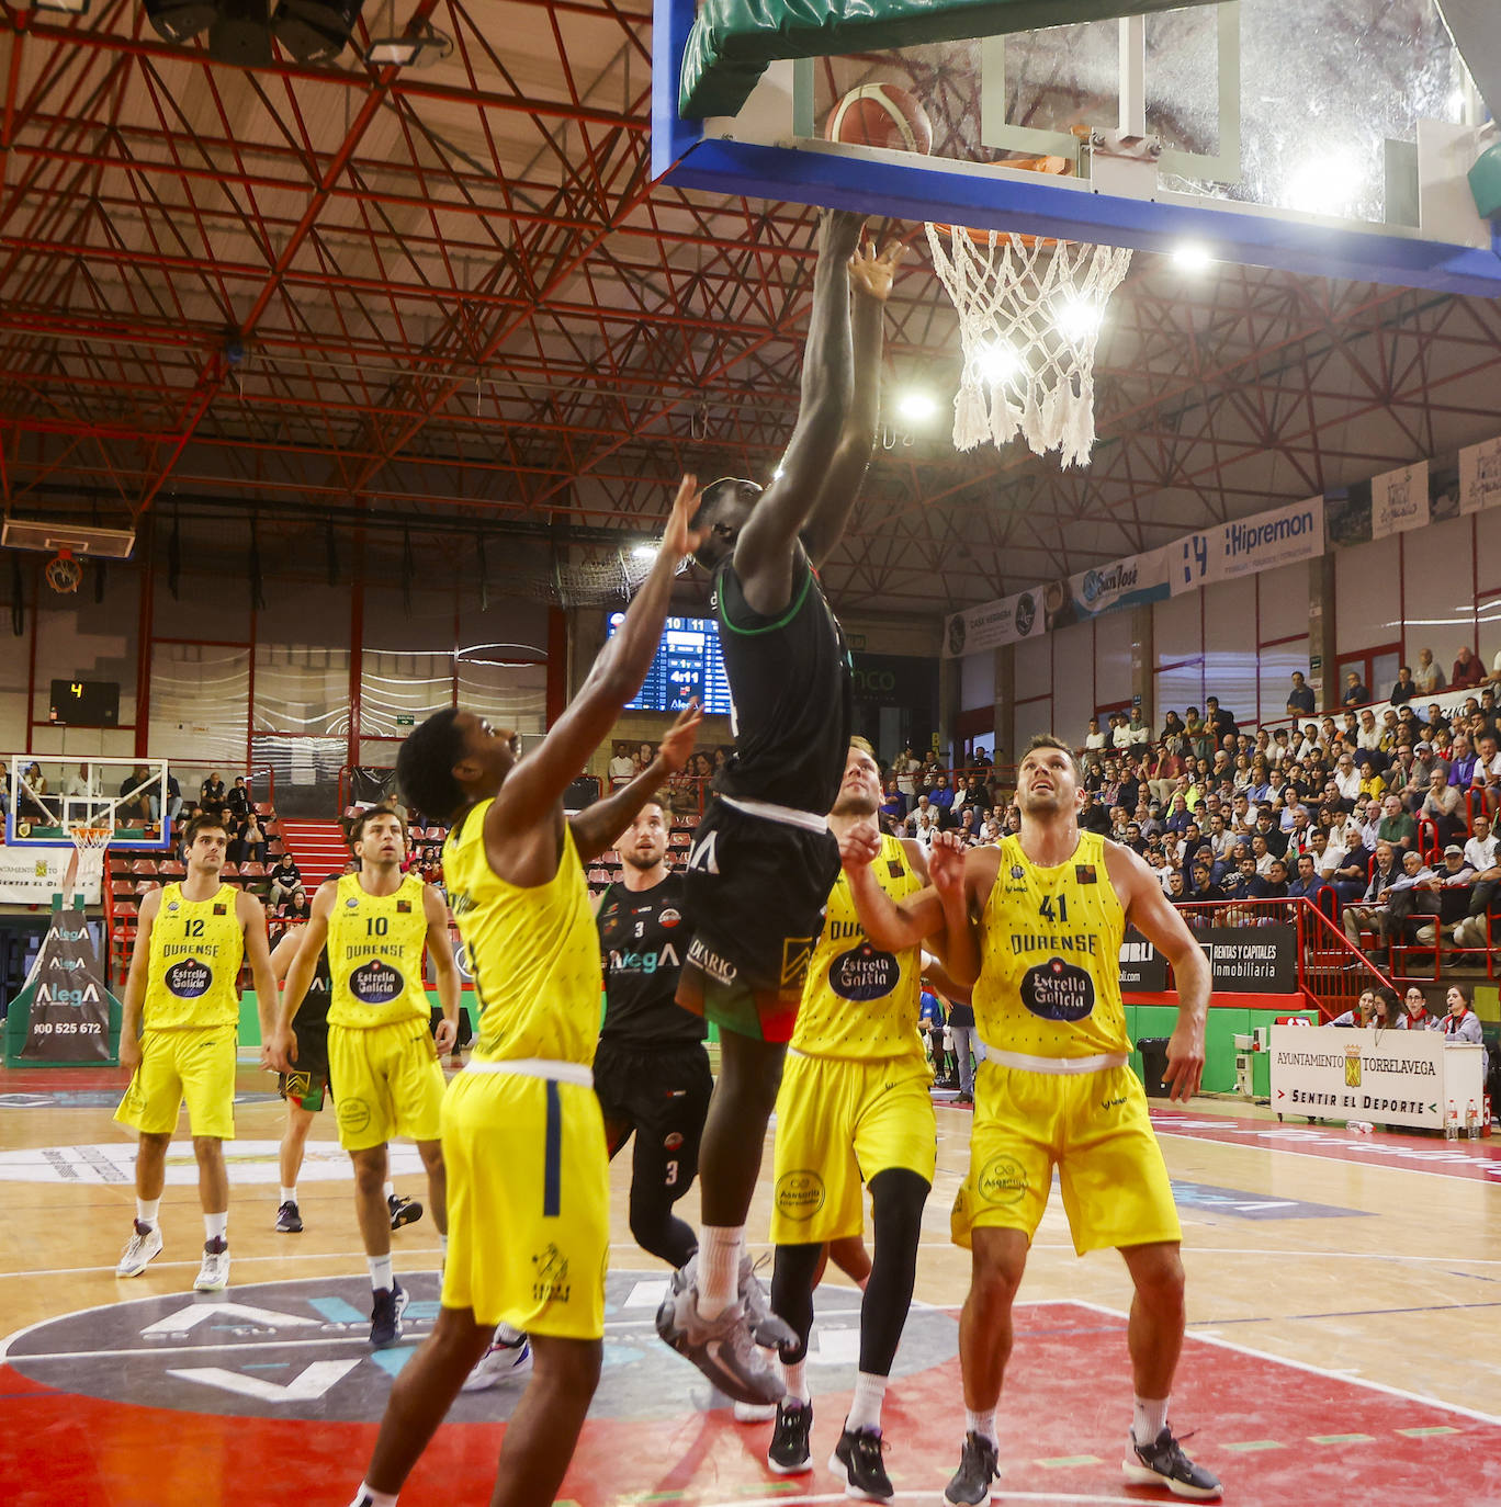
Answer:
<svg viewBox="0 0 1501 1507"><path fill-rule="evenodd" d="M443 1068L428 1028L423 883L408 874L369 895L345 874L329 916L329 1076L339 1085L339 1145L365 1151L393 1136L436 1141Z"/></svg>

